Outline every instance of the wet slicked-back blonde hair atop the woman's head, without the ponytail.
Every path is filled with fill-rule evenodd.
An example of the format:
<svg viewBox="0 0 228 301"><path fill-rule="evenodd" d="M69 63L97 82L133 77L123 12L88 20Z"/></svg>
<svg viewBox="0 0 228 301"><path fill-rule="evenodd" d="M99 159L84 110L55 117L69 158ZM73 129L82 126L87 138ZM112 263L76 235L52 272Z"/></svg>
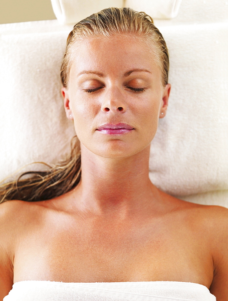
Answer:
<svg viewBox="0 0 228 301"><path fill-rule="evenodd" d="M69 33L61 66L61 81L65 88L68 87L74 45L80 40L96 37L112 38L115 34L130 34L131 37L137 37L154 49L162 75L162 86L165 87L168 83L168 49L153 19L143 11L134 11L128 7L109 7L78 22Z"/></svg>

